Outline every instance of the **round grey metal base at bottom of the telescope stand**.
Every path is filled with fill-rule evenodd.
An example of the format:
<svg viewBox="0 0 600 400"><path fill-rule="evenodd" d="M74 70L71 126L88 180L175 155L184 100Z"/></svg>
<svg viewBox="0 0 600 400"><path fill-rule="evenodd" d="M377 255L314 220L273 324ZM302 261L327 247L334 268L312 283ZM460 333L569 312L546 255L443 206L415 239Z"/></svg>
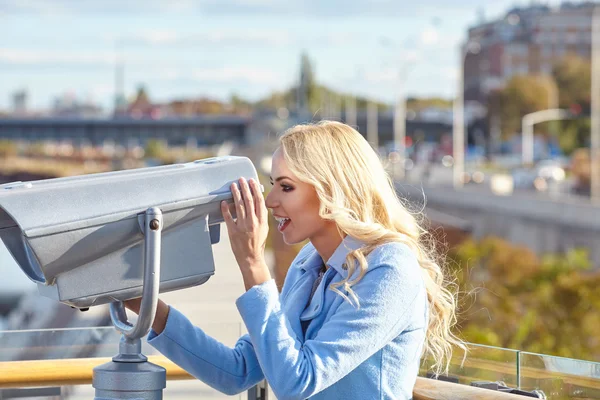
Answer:
<svg viewBox="0 0 600 400"><path fill-rule="evenodd" d="M167 371L156 364L111 361L94 368L94 400L162 400Z"/></svg>

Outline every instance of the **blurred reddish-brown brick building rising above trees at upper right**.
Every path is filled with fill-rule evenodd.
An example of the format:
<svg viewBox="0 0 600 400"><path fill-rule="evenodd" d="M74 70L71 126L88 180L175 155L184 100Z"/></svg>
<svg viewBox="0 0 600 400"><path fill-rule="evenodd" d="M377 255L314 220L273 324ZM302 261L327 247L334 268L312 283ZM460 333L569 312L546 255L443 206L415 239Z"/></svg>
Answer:
<svg viewBox="0 0 600 400"><path fill-rule="evenodd" d="M473 26L463 48L465 99L486 103L515 75L550 74L568 53L591 57L595 3L515 8L498 20ZM469 49L469 52L466 50Z"/></svg>

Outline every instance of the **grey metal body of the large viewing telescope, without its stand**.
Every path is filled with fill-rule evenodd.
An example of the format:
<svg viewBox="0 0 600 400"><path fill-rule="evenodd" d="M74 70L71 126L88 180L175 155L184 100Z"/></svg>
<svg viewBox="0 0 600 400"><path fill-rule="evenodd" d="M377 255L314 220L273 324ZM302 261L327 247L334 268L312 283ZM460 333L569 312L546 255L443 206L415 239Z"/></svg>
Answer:
<svg viewBox="0 0 600 400"><path fill-rule="evenodd" d="M77 308L140 297L144 215L163 214L160 292L206 282L245 157L0 186L0 239L41 295Z"/></svg>

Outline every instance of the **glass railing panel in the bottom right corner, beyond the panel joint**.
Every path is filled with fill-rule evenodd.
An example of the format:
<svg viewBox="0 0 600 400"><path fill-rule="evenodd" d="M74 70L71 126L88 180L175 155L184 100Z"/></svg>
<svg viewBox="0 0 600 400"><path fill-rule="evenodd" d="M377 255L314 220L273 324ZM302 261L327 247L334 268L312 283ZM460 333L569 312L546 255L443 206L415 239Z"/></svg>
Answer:
<svg viewBox="0 0 600 400"><path fill-rule="evenodd" d="M519 371L521 389L548 399L600 399L600 363L521 352Z"/></svg>

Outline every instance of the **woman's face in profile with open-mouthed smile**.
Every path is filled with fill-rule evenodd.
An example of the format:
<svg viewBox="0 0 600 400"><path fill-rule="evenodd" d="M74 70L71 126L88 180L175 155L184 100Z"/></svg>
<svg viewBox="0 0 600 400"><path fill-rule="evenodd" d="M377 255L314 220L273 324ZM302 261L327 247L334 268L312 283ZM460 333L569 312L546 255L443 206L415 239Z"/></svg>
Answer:
<svg viewBox="0 0 600 400"><path fill-rule="evenodd" d="M277 229L287 244L300 243L336 232L335 223L319 216L319 198L312 185L301 182L286 165L281 148L273 154L271 164L273 188L265 199L279 222Z"/></svg>

